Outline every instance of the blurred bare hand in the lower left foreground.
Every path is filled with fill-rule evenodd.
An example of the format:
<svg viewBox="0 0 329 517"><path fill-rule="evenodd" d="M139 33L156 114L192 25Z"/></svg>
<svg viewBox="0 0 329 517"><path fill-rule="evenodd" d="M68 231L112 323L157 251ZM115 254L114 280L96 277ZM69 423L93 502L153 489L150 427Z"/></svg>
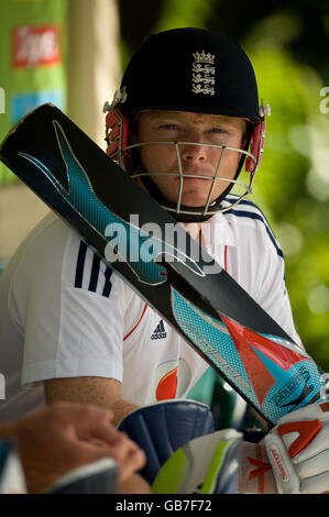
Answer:
<svg viewBox="0 0 329 517"><path fill-rule="evenodd" d="M40 493L61 475L112 458L119 482L145 463L144 452L111 424L112 411L91 405L54 404L12 424L28 491Z"/></svg>

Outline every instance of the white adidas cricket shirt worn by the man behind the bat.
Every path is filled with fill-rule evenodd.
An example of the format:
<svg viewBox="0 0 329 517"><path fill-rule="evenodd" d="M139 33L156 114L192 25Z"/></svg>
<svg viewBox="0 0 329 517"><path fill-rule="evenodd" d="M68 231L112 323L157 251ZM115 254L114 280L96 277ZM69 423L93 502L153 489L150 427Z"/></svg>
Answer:
<svg viewBox="0 0 329 517"><path fill-rule="evenodd" d="M259 208L243 200L205 226L206 251L300 342L283 254ZM43 404L44 380L116 378L124 399L146 405L185 397L208 367L54 215L25 239L0 277L0 307L7 389L0 420Z"/></svg>

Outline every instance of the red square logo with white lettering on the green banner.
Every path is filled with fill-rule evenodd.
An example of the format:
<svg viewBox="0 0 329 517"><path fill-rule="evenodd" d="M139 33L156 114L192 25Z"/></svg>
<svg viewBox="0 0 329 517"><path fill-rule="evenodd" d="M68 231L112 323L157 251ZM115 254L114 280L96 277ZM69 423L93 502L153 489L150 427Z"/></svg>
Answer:
<svg viewBox="0 0 329 517"><path fill-rule="evenodd" d="M20 25L13 29L14 68L36 68L61 63L59 26Z"/></svg>

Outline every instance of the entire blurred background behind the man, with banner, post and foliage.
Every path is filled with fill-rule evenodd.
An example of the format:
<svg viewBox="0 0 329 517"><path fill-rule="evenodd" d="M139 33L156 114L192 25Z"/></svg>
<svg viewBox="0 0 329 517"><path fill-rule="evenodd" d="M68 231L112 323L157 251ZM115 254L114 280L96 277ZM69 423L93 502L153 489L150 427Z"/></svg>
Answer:
<svg viewBox="0 0 329 517"><path fill-rule="evenodd" d="M270 103L252 199L286 258L297 330L329 371L329 3L323 0L1 0L0 139L51 101L105 147L111 100L152 32L215 30L242 44ZM0 267L46 207L0 165Z"/></svg>

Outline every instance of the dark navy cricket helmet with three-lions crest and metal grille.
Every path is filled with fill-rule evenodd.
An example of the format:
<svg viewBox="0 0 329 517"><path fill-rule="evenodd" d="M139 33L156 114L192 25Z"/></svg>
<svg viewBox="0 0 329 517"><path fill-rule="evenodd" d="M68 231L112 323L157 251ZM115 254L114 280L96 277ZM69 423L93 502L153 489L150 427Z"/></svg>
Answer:
<svg viewBox="0 0 329 517"><path fill-rule="evenodd" d="M193 28L164 31L144 41L131 58L111 106L105 106L105 111L108 111L107 153L121 166L124 167L124 153L135 153L141 145L131 145L129 140L133 121L141 111L153 109L239 117L249 122L245 147L235 150L241 153L241 158L234 178L228 180L228 187L211 202L210 188L204 207L185 207L179 200L177 204L167 201L143 164L129 170L132 176L142 178L149 193L164 209L178 221L208 219L222 210L221 201L234 184L239 183L237 178L244 162L250 180L249 186L243 184L244 193L238 197L237 202L251 193L263 153L265 110L259 106L252 64L238 43L218 33ZM266 109L268 112L270 107ZM179 151L179 142L173 144ZM184 172L179 152L177 156L183 188ZM222 179L219 169L211 179L211 183Z"/></svg>

